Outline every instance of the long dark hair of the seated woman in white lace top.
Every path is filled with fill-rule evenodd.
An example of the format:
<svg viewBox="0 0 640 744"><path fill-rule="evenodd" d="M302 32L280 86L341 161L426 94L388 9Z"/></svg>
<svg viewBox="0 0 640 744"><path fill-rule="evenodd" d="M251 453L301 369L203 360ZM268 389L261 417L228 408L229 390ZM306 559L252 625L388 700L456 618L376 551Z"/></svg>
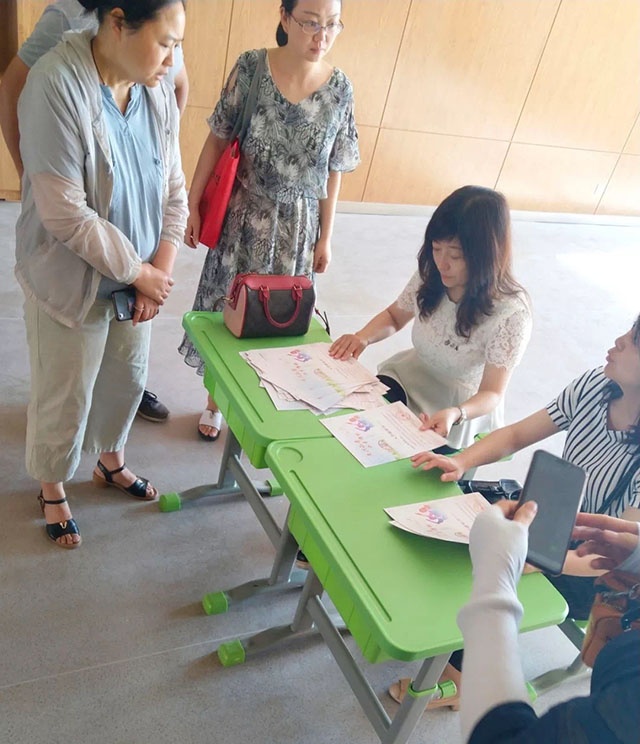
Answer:
<svg viewBox="0 0 640 744"><path fill-rule="evenodd" d="M463 186L433 213L418 254L422 318L435 311L446 291L433 258L433 241L452 239L460 242L467 265L456 333L469 338L481 316L492 314L496 299L524 293L511 273L511 218L504 196L482 186Z"/></svg>

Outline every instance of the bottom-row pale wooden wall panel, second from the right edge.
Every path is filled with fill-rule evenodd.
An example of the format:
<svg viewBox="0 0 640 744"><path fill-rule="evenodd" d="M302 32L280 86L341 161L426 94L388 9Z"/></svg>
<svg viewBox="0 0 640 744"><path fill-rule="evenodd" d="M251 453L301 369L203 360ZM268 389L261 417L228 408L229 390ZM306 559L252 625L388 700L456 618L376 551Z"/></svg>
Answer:
<svg viewBox="0 0 640 744"><path fill-rule="evenodd" d="M513 144L496 188L512 209L593 213L617 155Z"/></svg>

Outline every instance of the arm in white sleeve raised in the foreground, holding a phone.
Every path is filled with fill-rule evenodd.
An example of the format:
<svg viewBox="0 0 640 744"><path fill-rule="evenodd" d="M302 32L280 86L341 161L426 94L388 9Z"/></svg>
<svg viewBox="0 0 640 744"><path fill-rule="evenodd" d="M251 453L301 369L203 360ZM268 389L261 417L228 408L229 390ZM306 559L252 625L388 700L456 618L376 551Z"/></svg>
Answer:
<svg viewBox="0 0 640 744"><path fill-rule="evenodd" d="M464 637L460 723L463 741L492 708L528 702L518 648L522 605L516 585L527 553L527 528L498 508L480 514L471 530L471 599L458 614Z"/></svg>

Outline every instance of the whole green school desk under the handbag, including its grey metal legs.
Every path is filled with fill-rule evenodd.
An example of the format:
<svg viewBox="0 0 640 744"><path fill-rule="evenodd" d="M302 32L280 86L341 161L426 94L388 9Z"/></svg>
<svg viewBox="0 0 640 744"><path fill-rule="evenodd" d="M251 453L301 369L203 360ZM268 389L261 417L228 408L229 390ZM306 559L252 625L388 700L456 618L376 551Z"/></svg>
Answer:
<svg viewBox="0 0 640 744"><path fill-rule="evenodd" d="M313 319L304 336L238 339L225 327L222 313L189 312L182 325L205 363L204 384L228 425L218 481L196 486L182 493L160 496L160 510L177 511L187 501L204 497L244 497L276 548L276 559L268 578L238 587L210 592L203 599L205 612L225 612L230 602L249 596L301 586L302 572L291 569L298 550L286 528L280 528L264 503L264 496L281 493L278 484L252 481L243 463L244 453L256 468L265 468L267 446L280 439L330 438L331 434L310 411L278 411L267 392L260 387L256 372L240 356L240 351L329 342L320 323Z"/></svg>

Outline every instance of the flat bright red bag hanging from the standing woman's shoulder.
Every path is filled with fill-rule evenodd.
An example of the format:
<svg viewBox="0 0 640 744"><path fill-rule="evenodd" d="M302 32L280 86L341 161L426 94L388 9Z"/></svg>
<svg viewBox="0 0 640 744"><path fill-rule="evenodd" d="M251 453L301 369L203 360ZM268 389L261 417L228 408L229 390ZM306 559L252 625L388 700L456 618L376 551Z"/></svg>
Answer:
<svg viewBox="0 0 640 744"><path fill-rule="evenodd" d="M239 162L240 142L236 137L218 158L200 199L200 242L208 248L218 245Z"/></svg>

